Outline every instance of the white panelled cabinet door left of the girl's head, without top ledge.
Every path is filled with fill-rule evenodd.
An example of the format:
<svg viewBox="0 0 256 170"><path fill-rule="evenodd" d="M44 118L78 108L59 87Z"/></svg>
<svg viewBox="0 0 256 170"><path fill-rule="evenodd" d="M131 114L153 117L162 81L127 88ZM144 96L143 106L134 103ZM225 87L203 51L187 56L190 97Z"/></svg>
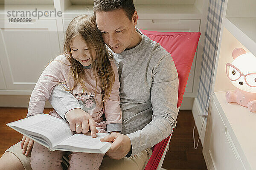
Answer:
<svg viewBox="0 0 256 170"><path fill-rule="evenodd" d="M5 21L0 20L0 62L7 91L0 92L32 91L47 63L61 53L56 20L23 24Z"/></svg>

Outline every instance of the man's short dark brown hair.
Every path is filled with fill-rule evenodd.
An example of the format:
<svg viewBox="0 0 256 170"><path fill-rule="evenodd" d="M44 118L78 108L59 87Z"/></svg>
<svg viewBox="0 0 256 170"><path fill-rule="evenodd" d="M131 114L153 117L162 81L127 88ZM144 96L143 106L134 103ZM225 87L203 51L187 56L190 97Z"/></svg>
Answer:
<svg viewBox="0 0 256 170"><path fill-rule="evenodd" d="M133 0L93 0L93 12L97 11L113 11L115 9L123 9L131 21L135 11Z"/></svg>

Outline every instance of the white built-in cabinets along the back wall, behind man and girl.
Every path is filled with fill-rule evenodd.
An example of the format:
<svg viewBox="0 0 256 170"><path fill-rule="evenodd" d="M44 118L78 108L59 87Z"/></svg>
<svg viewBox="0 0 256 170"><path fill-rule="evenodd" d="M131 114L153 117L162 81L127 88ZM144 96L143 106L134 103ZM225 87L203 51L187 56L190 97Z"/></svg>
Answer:
<svg viewBox="0 0 256 170"><path fill-rule="evenodd" d="M93 0L5 2L3 4L0 1L0 95L30 95L47 63L63 52L64 32L68 24L80 14L93 13ZM208 2L209 0L134 0L139 14L137 27L153 31L204 33ZM8 20L7 11L32 12L35 9L48 13L61 11L62 15L43 16L40 19L34 17L31 23L3 24L4 20ZM201 34L184 94L189 99L193 99L198 92L204 38L204 34Z"/></svg>

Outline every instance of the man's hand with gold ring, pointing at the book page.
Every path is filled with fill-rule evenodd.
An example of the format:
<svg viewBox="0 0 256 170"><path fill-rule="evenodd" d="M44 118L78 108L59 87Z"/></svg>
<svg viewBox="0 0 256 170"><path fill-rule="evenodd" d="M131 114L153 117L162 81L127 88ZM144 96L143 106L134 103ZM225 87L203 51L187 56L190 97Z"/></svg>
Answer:
<svg viewBox="0 0 256 170"><path fill-rule="evenodd" d="M70 130L76 133L87 133L89 128L91 130L92 137L96 137L96 123L92 116L86 113L82 109L73 109L65 114L65 118L70 123Z"/></svg>

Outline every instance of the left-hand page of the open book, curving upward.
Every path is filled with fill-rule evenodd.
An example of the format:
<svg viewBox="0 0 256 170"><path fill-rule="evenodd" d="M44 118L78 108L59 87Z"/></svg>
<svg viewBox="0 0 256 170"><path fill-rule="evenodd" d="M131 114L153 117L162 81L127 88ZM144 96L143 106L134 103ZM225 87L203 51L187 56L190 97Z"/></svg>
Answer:
<svg viewBox="0 0 256 170"><path fill-rule="evenodd" d="M39 133L49 139L52 147L74 134L67 121L48 114L38 114L8 125Z"/></svg>

